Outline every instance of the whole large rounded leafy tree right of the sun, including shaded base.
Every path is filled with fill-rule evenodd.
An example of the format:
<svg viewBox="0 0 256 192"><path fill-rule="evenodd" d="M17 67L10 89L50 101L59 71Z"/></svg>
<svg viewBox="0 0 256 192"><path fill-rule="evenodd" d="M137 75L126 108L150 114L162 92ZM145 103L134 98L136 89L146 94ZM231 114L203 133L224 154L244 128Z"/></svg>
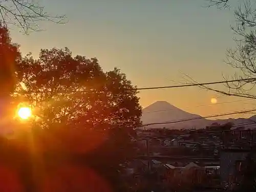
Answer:
<svg viewBox="0 0 256 192"><path fill-rule="evenodd" d="M16 69L23 87L12 96L32 105L36 117L25 126L32 127L37 153L49 161L72 158L119 184L119 164L132 155L130 136L141 124L138 92L125 74L104 72L96 58L72 57L68 48L41 50L38 59L29 54Z"/></svg>

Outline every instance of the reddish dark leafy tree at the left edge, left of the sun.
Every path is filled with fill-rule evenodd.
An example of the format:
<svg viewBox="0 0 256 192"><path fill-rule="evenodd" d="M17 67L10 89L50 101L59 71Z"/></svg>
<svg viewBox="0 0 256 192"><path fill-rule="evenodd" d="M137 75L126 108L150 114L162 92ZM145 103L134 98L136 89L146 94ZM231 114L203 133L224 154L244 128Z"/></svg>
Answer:
<svg viewBox="0 0 256 192"><path fill-rule="evenodd" d="M0 184L1 191L20 191L18 189L20 185L19 177L17 176L19 168L17 168L17 166L19 164L18 161L24 162L23 157L25 156L8 144L6 134L9 133L10 122L13 117L10 96L15 89L16 66L21 59L19 46L12 42L8 29L0 25L0 152L3 156L0 163L0 174L5 175L5 177L1 179L3 180ZM23 165L25 165L25 163ZM13 180L11 182L10 177L12 176L7 176L8 174L13 175L15 181Z"/></svg>

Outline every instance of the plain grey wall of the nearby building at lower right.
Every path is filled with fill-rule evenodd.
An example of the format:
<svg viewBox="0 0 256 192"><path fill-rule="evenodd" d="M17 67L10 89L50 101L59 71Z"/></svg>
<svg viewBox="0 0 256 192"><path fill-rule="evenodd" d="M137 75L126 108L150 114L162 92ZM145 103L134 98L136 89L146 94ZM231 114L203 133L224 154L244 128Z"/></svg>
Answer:
<svg viewBox="0 0 256 192"><path fill-rule="evenodd" d="M230 176L235 174L236 162L244 161L248 152L228 152L220 153L220 178L222 184L229 182Z"/></svg>

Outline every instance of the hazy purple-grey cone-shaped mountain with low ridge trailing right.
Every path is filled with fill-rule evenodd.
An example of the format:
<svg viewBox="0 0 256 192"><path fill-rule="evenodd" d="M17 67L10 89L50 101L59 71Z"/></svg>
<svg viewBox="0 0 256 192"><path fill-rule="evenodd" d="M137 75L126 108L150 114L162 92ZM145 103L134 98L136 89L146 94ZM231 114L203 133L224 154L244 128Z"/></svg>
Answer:
<svg viewBox="0 0 256 192"><path fill-rule="evenodd" d="M227 122L232 122L239 127L239 125L243 124L251 124L254 121L256 122L256 115L246 119L246 118L238 118L238 119L220 119L220 120L209 120L204 119L200 115L191 114L185 112L176 106L166 102L166 101L156 101L155 103L147 106L143 109L141 120L143 124L151 124L151 123L163 123L170 121L178 121L182 119L195 119L177 123L166 123L166 124L153 124L144 126L145 128L161 128L165 127L166 129L202 129L206 126L209 126L213 123L225 124ZM256 124L246 125L247 128L254 128Z"/></svg>

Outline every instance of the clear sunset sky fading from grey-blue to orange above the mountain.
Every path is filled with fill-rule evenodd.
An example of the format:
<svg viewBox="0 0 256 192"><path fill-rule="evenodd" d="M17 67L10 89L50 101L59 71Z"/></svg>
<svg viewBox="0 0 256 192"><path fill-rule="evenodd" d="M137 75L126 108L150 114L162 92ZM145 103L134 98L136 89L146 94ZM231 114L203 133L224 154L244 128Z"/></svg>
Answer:
<svg viewBox="0 0 256 192"><path fill-rule="evenodd" d="M138 88L184 83L184 74L199 82L233 74L223 62L226 49L235 45L230 30L233 10L207 9L205 0L40 2L51 14L66 14L68 23L42 23L46 31L30 35L12 30L23 54L37 57L41 48L68 47L74 55L97 57L104 70L119 68ZM195 87L141 91L139 97L143 107L165 100L202 116L253 109L251 100ZM211 104L212 97L216 104Z"/></svg>

